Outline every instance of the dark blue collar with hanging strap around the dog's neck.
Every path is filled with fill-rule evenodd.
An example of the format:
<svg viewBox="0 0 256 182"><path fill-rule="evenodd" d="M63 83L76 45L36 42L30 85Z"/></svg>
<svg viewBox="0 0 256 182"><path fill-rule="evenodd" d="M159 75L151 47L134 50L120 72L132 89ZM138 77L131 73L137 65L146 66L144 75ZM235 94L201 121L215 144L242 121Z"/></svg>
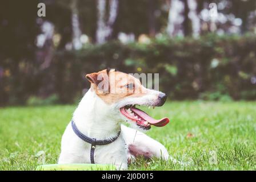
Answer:
<svg viewBox="0 0 256 182"><path fill-rule="evenodd" d="M81 138L83 141L90 143L91 144L91 152L90 152L90 157L91 157L91 163L94 164L94 150L95 147L98 146L103 146L105 144L110 144L112 142L114 142L116 139L118 139L121 131L118 132L118 135L114 138L110 138L110 139L105 139L105 140L97 140L95 138L90 138L87 137L86 135L82 134L81 131L78 130L77 126L75 125L75 122L72 120L71 121L71 126L72 129L74 131L74 133Z"/></svg>

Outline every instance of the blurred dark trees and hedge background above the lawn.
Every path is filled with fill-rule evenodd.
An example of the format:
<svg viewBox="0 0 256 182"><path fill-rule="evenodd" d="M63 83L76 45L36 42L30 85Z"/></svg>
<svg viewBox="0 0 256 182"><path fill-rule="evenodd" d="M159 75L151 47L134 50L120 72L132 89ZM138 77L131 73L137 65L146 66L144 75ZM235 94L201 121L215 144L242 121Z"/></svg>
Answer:
<svg viewBox="0 0 256 182"><path fill-rule="evenodd" d="M0 105L73 103L107 67L159 73L172 100L255 100L256 1L0 2Z"/></svg>

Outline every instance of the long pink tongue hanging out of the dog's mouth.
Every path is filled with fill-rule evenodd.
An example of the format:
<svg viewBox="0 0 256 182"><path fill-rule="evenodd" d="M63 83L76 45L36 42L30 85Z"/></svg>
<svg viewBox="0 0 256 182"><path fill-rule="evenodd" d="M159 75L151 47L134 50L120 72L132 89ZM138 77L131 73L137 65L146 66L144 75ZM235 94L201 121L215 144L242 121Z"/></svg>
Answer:
<svg viewBox="0 0 256 182"><path fill-rule="evenodd" d="M165 126L169 123L168 118L162 118L162 119L157 120L157 119L151 118L149 115L147 115L147 113L145 113L144 111L142 111L140 109L132 107L131 110L134 113L138 114L143 119L145 119L145 121L149 122L151 125L161 127L161 126Z"/></svg>

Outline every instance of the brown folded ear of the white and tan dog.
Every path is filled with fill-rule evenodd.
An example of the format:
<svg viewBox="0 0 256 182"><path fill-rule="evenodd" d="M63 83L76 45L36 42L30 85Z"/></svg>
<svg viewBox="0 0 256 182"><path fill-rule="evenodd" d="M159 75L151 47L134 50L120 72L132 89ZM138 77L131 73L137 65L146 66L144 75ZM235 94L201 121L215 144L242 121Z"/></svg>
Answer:
<svg viewBox="0 0 256 182"><path fill-rule="evenodd" d="M109 92L109 76L106 69L98 73L87 74L86 78L91 82L91 84L95 84L97 86L99 92L105 94Z"/></svg>

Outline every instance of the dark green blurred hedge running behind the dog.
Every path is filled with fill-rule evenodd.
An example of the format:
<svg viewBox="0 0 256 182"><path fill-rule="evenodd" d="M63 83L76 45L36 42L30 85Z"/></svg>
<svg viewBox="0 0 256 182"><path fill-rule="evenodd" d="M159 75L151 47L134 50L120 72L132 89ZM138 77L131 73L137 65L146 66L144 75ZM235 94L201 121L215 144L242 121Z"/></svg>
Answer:
<svg viewBox="0 0 256 182"><path fill-rule="evenodd" d="M85 74L107 67L127 73L159 73L160 89L173 100L256 99L253 35L206 35L198 39L161 36L149 44L109 42L87 45L80 51L57 51L44 70L35 62L20 60L15 63L19 74L2 77L2 103L25 104L31 96L47 98L51 94L58 102L74 102L89 88ZM13 72L11 65L4 69Z"/></svg>

